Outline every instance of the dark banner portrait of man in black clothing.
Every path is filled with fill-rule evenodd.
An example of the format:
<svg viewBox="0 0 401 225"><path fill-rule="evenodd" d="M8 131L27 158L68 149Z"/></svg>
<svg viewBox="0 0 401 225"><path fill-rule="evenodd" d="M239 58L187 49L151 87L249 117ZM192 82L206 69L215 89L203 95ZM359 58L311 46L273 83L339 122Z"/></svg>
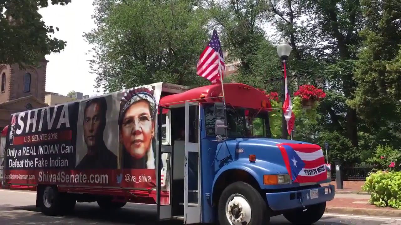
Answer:
<svg viewBox="0 0 401 225"><path fill-rule="evenodd" d="M88 151L76 169L117 168L117 156L107 149L103 141L106 112L105 97L93 98L86 102L83 114L83 138Z"/></svg>

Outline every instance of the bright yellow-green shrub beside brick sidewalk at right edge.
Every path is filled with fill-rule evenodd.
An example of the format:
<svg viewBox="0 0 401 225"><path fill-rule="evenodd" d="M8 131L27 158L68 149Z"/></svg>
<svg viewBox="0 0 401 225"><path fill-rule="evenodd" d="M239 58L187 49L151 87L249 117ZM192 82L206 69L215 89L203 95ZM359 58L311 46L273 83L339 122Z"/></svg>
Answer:
<svg viewBox="0 0 401 225"><path fill-rule="evenodd" d="M362 189L371 194L369 201L377 207L401 208L401 172L371 173Z"/></svg>

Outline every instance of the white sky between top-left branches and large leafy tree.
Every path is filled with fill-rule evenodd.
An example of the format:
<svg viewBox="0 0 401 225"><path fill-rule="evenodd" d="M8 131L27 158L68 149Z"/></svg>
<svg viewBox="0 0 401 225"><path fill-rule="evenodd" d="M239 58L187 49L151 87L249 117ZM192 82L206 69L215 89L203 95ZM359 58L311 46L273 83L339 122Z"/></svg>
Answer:
<svg viewBox="0 0 401 225"><path fill-rule="evenodd" d="M89 73L91 55L85 55L91 46L82 37L84 32L95 28L91 15L92 0L73 0L66 6L49 5L39 9L47 26L58 27L52 37L67 41L60 53L46 56L49 60L46 71L46 91L66 95L74 90L84 95L95 95L95 74Z"/></svg>

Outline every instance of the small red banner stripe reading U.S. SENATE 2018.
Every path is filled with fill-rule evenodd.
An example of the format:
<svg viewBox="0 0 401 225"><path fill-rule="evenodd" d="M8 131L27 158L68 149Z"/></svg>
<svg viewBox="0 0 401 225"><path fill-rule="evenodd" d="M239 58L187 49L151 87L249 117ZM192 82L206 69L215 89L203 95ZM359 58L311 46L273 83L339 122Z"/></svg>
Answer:
<svg viewBox="0 0 401 225"><path fill-rule="evenodd" d="M34 143L45 143L53 141L69 141L72 139L72 131L56 131L56 132L46 132L34 135L25 135L14 137L13 145L24 145L24 144L34 144Z"/></svg>

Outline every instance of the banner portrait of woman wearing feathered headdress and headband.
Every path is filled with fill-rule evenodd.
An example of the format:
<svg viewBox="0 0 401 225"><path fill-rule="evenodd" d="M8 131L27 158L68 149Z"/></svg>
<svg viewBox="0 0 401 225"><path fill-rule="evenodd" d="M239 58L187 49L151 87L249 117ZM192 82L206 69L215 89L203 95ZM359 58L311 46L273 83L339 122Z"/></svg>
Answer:
<svg viewBox="0 0 401 225"><path fill-rule="evenodd" d="M154 87L128 90L121 98L119 141L124 169L155 169Z"/></svg>

